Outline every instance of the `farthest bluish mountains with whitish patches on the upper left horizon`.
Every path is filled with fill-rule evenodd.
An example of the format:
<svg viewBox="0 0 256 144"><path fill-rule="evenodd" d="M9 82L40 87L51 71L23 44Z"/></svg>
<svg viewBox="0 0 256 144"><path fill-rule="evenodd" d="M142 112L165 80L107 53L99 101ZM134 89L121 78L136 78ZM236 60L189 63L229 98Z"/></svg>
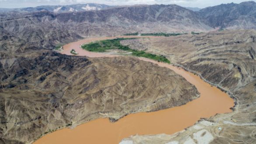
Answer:
<svg viewBox="0 0 256 144"><path fill-rule="evenodd" d="M62 13L62 12L78 12L78 11L88 11L88 10L104 10L112 6L107 6L105 4L96 4L96 3L88 3L88 4L73 4L73 5L58 5L58 6L38 6L38 7L26 7L26 8L0 8L0 12L7 11L19 11L19 12L37 12L37 11L50 11L54 13Z"/></svg>

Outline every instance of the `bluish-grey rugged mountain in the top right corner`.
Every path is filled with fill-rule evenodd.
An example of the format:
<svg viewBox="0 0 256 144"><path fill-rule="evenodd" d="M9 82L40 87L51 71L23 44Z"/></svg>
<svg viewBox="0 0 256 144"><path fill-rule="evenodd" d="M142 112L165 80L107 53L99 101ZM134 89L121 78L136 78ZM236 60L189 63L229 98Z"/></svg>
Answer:
<svg viewBox="0 0 256 144"><path fill-rule="evenodd" d="M256 3L254 1L207 7L200 10L199 14L206 18L211 27L256 28Z"/></svg>

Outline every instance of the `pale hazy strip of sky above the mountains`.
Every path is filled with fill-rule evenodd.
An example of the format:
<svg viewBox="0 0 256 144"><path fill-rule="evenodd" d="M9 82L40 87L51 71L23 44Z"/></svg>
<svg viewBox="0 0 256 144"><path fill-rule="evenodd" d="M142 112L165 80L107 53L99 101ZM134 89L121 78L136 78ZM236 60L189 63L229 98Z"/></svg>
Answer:
<svg viewBox="0 0 256 144"><path fill-rule="evenodd" d="M40 5L68 5L99 3L107 5L177 4L183 7L210 7L221 3L241 3L248 0L0 0L2 8L36 7ZM253 0L256 1L256 0Z"/></svg>

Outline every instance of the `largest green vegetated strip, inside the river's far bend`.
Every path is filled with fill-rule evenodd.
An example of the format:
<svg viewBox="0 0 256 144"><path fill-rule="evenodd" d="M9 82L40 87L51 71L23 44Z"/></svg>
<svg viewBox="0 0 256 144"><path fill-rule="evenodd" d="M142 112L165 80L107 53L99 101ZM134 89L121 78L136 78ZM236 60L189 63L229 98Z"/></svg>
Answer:
<svg viewBox="0 0 256 144"><path fill-rule="evenodd" d="M110 50L110 49L120 49L120 50L132 52L132 55L135 55L138 57L145 57L145 58L154 59L158 62L170 63L170 61L163 55L159 56L159 55L147 53L145 51L137 51L134 49L130 49L128 46L121 45L120 41L125 39L128 39L128 38L116 38L111 40L91 42L89 44L82 45L82 48L87 51L94 51L94 52L105 52L106 50Z"/></svg>

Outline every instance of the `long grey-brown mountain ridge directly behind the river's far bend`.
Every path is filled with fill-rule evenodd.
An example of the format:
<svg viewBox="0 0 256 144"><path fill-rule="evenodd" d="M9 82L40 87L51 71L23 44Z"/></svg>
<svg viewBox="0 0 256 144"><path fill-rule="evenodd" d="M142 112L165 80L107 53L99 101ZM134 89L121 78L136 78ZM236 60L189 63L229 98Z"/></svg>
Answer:
<svg viewBox="0 0 256 144"><path fill-rule="evenodd" d="M130 32L208 31L199 14L177 5L140 5L56 14L1 13L0 30L48 48L81 37Z"/></svg>

